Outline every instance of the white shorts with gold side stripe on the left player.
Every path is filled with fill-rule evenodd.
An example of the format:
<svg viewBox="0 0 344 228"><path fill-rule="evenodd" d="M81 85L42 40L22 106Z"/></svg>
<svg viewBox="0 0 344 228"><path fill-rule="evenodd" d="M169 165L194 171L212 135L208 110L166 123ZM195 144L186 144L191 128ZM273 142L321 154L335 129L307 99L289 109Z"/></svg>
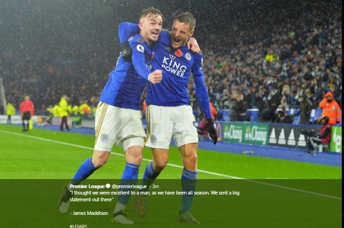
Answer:
<svg viewBox="0 0 344 228"><path fill-rule="evenodd" d="M124 151L131 146L143 147L145 137L140 110L99 102L95 116L94 150L111 152L115 143Z"/></svg>

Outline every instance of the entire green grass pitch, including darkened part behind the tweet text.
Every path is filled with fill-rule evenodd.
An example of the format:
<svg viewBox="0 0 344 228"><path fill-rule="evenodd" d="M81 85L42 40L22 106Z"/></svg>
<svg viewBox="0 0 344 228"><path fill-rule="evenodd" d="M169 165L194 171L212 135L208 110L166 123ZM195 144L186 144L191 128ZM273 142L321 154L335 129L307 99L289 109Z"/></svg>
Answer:
<svg viewBox="0 0 344 228"><path fill-rule="evenodd" d="M58 212L62 186L92 155L94 136L52 130L21 132L0 125L0 227L87 228L128 227L110 222L111 203L71 203ZM109 161L83 183L119 181L125 158L114 147ZM144 149L139 178L151 159ZM178 223L181 196L150 196L141 218L130 197L126 213L137 228L323 228L342 227L341 167L264 158L245 154L198 150L198 191L240 191L240 196L195 196L193 215L201 224ZM182 162L171 147L170 165L154 184L159 191L181 191ZM232 178L247 178L236 180ZM116 179L116 180L114 180ZM151 189L155 191L156 189ZM10 206L9 206L10 205ZM108 216L73 216L73 211L106 211ZM20 216L18 216L20 215ZM20 218L20 219L18 219ZM72 226L73 225L73 226ZM84 227L85 228L85 227Z"/></svg>

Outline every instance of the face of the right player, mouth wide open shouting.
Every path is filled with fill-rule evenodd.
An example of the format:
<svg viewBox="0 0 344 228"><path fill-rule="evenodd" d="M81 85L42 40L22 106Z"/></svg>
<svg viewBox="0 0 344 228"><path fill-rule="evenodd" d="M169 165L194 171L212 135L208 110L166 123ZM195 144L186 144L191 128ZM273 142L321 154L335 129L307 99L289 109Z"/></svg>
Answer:
<svg viewBox="0 0 344 228"><path fill-rule="evenodd" d="M177 49L183 47L188 41L188 38L193 34L194 31L191 31L189 24L175 20L172 25L171 33L172 48Z"/></svg>

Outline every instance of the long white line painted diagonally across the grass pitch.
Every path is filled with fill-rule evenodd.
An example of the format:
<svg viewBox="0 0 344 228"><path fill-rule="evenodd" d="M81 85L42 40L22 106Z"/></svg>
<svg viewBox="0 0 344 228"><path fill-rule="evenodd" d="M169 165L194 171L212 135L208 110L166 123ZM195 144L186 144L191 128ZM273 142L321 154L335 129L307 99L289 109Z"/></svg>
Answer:
<svg viewBox="0 0 344 228"><path fill-rule="evenodd" d="M15 133L12 131L7 131L7 130L0 130L2 132L6 132L9 134L15 134L15 135L19 135L19 136L23 136L23 137L28 137L28 138L33 138L33 139L38 139L38 140L43 140L43 141L47 141L47 142L53 142L53 143L58 143L58 144L62 144L62 145L67 145L67 146L71 146L71 147L78 147L78 148L83 148L86 150L92 150L93 148L91 147L85 147L85 146L80 146L77 144L71 144L71 143L64 143L64 142L60 142L60 141L56 141L56 140L51 140L51 139L45 139L45 138L41 138L41 137L36 137L36 136L31 136L31 135L25 135L25 134L20 134L20 133ZM116 153L116 152L111 152L112 154L118 155L118 156L124 156L124 154L122 153ZM150 159L146 159L143 158L144 161L152 161ZM184 168L183 166L180 165L174 165L171 163L167 164L168 166L172 166L172 167L176 167L176 168ZM330 198L330 199L335 199L335 200L342 200L342 197L337 197L337 196L331 196L331 195L326 195L326 194L321 194L321 193L317 193L317 192L311 192L311 191L307 191L307 190L302 190L302 189L298 189L298 188L291 188L291 187L287 187L287 186L283 186L283 185L277 185L277 184L271 184L271 183L265 183L265 182L261 182L258 180L252 180L252 179L245 179L245 178L241 178L241 177L234 177L234 176L229 176L229 175L225 175L225 174L219 174L219 173L214 173L214 172L209 172L209 171L205 171L205 170L197 170L197 172L200 173L205 173L205 174L210 174L210 175L214 175L214 176L220 176L220 177L228 177L231 179L242 179L244 181L248 181L248 182L252 182L252 183L256 183L256 184L263 184L263 185L267 185L267 186L271 186L271 187L276 187L276 188L283 188L283 189L287 189L287 190L291 190L291 191L295 191L295 192L302 192L302 193L306 193L306 194L311 194L311 195L315 195L315 196L321 196L321 197L326 197L326 198Z"/></svg>

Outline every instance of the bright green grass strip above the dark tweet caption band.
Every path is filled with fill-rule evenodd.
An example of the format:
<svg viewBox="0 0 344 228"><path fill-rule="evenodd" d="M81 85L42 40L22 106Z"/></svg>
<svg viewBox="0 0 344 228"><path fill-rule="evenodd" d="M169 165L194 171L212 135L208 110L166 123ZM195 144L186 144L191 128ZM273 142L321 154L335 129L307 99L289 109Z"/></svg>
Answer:
<svg viewBox="0 0 344 228"><path fill-rule="evenodd" d="M68 179L74 175L79 165L92 155L94 146L94 136L92 135L43 129L21 132L21 129L18 126L0 125L1 179ZM114 146L112 151L118 154L111 154L109 161L90 178L119 179L121 177L125 158L119 154L123 154L123 150ZM143 157L145 159L152 158L148 148L144 149ZM143 160L139 178L143 176L147 162L147 160ZM180 154L174 146L170 148L169 163L172 166L167 166L159 178L179 179L181 168L173 165L181 166L182 162ZM201 149L198 150L198 169L201 170L199 172L200 179L230 177L250 179L342 178L341 167ZM225 175L225 177L217 174Z"/></svg>

